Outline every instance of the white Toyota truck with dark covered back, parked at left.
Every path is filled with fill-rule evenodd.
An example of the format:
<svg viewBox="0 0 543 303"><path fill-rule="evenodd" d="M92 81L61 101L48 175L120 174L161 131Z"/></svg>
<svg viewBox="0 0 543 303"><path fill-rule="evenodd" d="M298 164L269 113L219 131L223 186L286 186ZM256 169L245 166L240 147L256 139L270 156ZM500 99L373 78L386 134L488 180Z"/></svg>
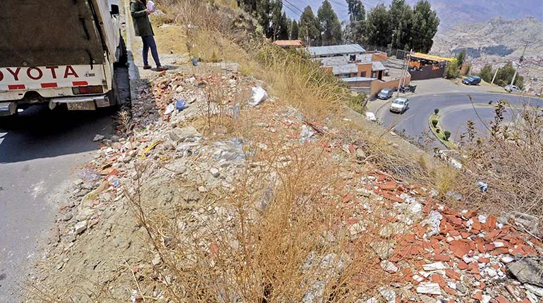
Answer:
<svg viewBox="0 0 543 303"><path fill-rule="evenodd" d="M126 63L126 47L116 0L1 2L0 116L117 103L114 63Z"/></svg>

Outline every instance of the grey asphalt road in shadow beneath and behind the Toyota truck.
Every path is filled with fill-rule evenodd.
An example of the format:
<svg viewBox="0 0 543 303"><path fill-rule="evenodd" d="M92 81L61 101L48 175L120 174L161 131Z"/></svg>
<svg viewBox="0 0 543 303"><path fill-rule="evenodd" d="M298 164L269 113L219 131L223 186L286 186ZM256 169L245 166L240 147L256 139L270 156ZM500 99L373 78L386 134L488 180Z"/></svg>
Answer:
<svg viewBox="0 0 543 303"><path fill-rule="evenodd" d="M129 105L128 68L116 68L116 82L123 106ZM0 118L0 302L23 302L28 268L54 233L78 166L94 156L94 135L114 131L116 109L35 106Z"/></svg>

